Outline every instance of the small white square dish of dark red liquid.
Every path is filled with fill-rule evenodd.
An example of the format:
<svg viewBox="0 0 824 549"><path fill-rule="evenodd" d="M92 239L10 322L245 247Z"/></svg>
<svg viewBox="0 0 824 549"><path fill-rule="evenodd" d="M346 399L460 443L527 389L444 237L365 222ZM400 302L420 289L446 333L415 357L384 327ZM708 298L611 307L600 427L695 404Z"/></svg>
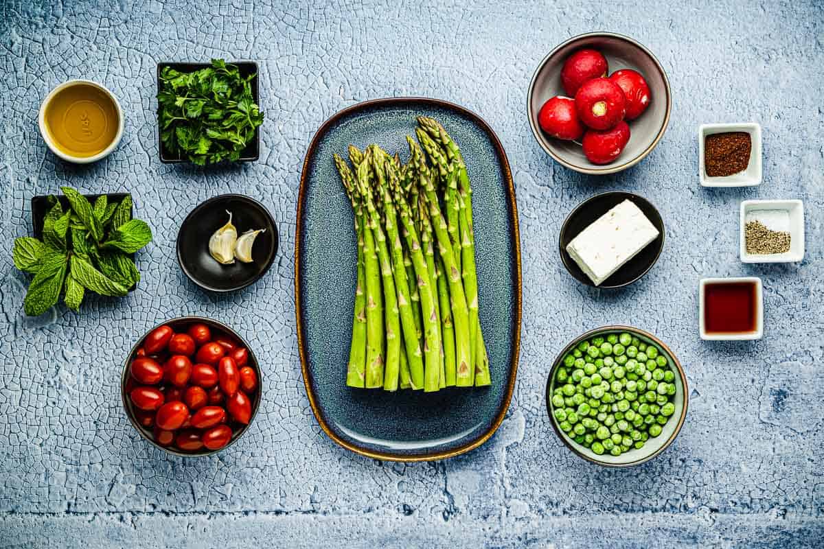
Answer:
<svg viewBox="0 0 824 549"><path fill-rule="evenodd" d="M761 278L702 278L698 294L701 339L739 341L764 335Z"/></svg>

